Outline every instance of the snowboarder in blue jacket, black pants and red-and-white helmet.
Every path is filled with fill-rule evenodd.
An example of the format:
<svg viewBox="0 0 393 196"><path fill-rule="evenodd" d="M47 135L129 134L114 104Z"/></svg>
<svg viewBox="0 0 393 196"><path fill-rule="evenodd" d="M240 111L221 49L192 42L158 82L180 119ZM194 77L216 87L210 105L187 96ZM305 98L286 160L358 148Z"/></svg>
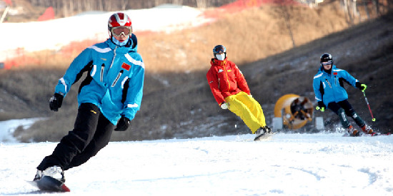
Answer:
<svg viewBox="0 0 393 196"><path fill-rule="evenodd" d="M113 130L126 130L139 110L144 86L144 62L136 52L131 19L124 13L110 16L110 38L82 51L59 79L51 110L87 71L79 86L78 115L74 129L61 139L53 153L37 167L34 180L43 176L65 182L64 170L86 163L109 143ZM115 128L116 126L116 128ZM114 129L115 128L115 129Z"/></svg>

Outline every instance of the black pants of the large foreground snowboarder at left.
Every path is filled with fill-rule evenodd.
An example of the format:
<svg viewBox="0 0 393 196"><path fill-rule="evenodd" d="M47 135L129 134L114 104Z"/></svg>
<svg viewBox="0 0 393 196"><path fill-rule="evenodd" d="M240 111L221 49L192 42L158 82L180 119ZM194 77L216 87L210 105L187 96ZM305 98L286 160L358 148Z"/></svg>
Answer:
<svg viewBox="0 0 393 196"><path fill-rule="evenodd" d="M61 138L53 153L46 156L37 169L45 170L59 165L63 170L68 170L86 163L109 143L113 129L114 125L96 105L81 103L74 130Z"/></svg>

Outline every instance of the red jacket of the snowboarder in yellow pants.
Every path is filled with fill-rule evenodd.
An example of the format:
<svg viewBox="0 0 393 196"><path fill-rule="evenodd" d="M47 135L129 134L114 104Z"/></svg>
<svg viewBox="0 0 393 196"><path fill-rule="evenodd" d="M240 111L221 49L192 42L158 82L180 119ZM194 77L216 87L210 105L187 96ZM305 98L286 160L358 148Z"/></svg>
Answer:
<svg viewBox="0 0 393 196"><path fill-rule="evenodd" d="M219 105L225 102L224 98L236 95L240 91L250 94L246 79L235 63L227 58L224 61L212 58L210 64L212 67L207 71L207 82Z"/></svg>

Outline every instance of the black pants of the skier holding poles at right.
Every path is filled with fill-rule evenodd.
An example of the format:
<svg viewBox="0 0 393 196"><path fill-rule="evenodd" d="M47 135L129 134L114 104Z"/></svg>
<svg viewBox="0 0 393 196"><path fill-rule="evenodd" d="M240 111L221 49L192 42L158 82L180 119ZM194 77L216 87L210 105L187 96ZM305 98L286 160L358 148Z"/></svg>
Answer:
<svg viewBox="0 0 393 196"><path fill-rule="evenodd" d="M351 125L345 115L353 118L355 123L359 125L360 128L366 124L364 123L364 120L362 120L362 118L357 115L354 108L352 108L351 103L349 103L347 99L339 102L331 102L327 105L327 108L339 115L340 122L344 128L348 128L349 125Z"/></svg>

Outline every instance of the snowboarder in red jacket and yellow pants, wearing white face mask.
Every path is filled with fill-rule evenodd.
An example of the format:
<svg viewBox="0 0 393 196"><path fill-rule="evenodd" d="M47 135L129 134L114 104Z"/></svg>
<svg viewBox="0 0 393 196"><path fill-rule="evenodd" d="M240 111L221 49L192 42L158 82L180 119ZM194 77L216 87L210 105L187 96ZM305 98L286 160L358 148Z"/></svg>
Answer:
<svg viewBox="0 0 393 196"><path fill-rule="evenodd" d="M207 72L207 82L222 109L238 115L259 140L272 129L265 123L261 105L252 98L247 81L235 63L228 61L227 48L217 45L213 49L212 67Z"/></svg>

